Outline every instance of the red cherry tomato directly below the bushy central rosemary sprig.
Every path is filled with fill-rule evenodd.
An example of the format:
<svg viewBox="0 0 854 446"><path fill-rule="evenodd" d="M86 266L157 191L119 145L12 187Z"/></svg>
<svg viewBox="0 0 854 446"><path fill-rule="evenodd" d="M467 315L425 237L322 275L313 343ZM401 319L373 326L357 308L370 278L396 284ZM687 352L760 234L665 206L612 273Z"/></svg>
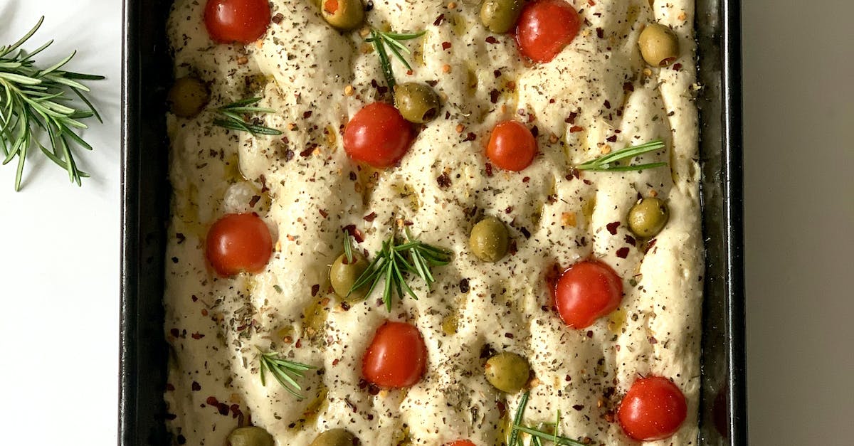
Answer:
<svg viewBox="0 0 854 446"><path fill-rule="evenodd" d="M427 368L427 347L418 328L386 322L377 328L362 358L362 375L381 387L409 387Z"/></svg>

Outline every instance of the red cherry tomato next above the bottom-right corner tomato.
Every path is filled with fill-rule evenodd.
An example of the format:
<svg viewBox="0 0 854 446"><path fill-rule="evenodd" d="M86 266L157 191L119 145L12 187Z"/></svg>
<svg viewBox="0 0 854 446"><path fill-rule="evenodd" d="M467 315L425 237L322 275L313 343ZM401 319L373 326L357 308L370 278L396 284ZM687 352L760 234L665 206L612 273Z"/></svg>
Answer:
<svg viewBox="0 0 854 446"><path fill-rule="evenodd" d="M623 280L601 261L579 261L564 271L554 303L566 325L581 329L614 311L623 300Z"/></svg>

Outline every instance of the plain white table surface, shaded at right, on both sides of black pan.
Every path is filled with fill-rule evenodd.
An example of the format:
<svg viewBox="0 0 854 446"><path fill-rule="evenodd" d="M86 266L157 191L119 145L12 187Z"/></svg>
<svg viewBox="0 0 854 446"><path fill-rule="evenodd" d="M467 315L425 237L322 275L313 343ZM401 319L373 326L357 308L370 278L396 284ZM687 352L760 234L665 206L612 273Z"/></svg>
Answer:
<svg viewBox="0 0 854 446"><path fill-rule="evenodd" d="M0 0L0 43L44 14L28 48L55 38L40 60L77 49L70 69L108 78L82 188L31 156L15 193L0 167L0 444L116 443L120 3ZM745 3L751 443L850 445L854 3Z"/></svg>

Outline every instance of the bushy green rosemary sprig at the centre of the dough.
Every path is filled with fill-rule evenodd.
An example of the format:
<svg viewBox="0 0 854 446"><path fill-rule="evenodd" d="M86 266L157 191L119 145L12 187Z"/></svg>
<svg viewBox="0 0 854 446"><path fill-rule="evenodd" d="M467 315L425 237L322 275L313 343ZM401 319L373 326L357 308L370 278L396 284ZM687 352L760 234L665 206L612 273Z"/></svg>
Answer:
<svg viewBox="0 0 854 446"><path fill-rule="evenodd" d="M385 302L385 308L390 312L391 298L395 292L400 299L403 299L404 290L406 290L406 294L418 300L418 296L407 284L406 276L408 274L417 275L424 280L424 284L430 289L430 285L436 282L430 269L447 265L451 261L449 251L415 240L412 238L409 228L407 228L406 243L399 244L398 242L396 234L392 234L388 240L383 242L383 249L377 251L365 273L362 273L350 288L348 295L354 290L371 284L371 288L366 293L368 296L380 279L385 279L383 302Z"/></svg>

